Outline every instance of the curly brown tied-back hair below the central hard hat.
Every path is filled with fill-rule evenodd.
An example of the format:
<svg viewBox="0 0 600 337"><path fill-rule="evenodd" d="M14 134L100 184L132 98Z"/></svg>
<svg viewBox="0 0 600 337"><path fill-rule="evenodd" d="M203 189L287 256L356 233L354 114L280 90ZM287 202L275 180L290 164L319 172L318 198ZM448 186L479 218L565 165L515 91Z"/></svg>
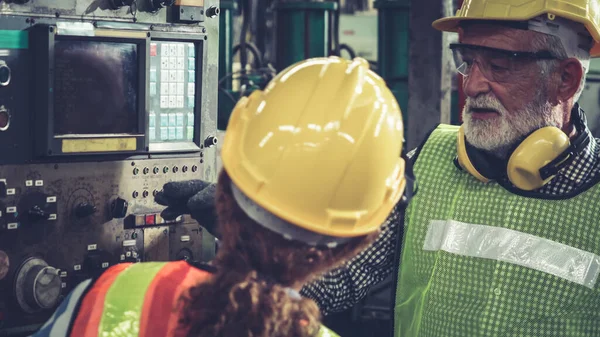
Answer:
<svg viewBox="0 0 600 337"><path fill-rule="evenodd" d="M222 236L210 281L191 289L183 323L194 337L316 336L321 316L314 301L294 299L298 288L371 243L378 233L335 248L287 240L251 220L235 202L230 178L219 175L216 209Z"/></svg>

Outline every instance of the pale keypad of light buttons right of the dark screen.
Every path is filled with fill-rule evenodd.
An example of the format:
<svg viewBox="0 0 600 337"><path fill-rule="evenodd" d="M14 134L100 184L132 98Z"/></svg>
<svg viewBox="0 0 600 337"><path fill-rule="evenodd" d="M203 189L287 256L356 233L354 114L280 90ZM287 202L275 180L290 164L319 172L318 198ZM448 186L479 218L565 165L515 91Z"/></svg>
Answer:
<svg viewBox="0 0 600 337"><path fill-rule="evenodd" d="M196 103L196 48L193 43L150 44L150 143L191 142Z"/></svg>

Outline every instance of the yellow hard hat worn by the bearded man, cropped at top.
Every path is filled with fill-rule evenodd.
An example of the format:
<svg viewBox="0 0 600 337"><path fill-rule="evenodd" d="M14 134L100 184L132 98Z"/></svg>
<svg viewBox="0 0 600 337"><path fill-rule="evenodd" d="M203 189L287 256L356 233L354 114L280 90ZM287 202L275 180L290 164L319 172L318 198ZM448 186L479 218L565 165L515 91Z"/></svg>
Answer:
<svg viewBox="0 0 600 337"><path fill-rule="evenodd" d="M595 41L590 56L600 56L598 0L464 0L455 16L436 20L433 27L455 32L463 20L527 21L543 14L583 24Z"/></svg>

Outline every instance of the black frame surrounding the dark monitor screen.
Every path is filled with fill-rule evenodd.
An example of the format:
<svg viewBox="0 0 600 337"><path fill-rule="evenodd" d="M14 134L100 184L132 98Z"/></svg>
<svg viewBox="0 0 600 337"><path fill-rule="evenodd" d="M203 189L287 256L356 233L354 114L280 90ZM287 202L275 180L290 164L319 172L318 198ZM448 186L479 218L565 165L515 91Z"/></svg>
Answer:
<svg viewBox="0 0 600 337"><path fill-rule="evenodd" d="M32 27L31 39L34 46L34 83L35 90L35 149L39 156L65 155L94 155L94 154L124 154L145 153L148 151L146 109L148 106L147 69L149 60L150 34L141 31L103 31L101 36L85 34L58 34L55 26L36 25ZM113 42L135 44L138 50L138 131L137 134L86 134L86 135L56 135L54 125L54 44L57 40L78 40L93 42ZM135 150L97 152L63 152L64 140L78 139L135 139Z"/></svg>

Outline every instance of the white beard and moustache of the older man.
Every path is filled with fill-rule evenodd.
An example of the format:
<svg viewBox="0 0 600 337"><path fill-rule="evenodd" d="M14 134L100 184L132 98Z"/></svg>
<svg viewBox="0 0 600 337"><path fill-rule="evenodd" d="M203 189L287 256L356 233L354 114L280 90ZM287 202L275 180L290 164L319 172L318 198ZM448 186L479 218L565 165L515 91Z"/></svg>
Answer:
<svg viewBox="0 0 600 337"><path fill-rule="evenodd" d="M544 126L562 127L562 112L543 97L543 92L539 90L537 97L512 114L491 94L468 97L462 112L467 141L478 149L506 158L511 148L534 130ZM471 108L493 109L499 112L499 116L487 120L473 119Z"/></svg>

